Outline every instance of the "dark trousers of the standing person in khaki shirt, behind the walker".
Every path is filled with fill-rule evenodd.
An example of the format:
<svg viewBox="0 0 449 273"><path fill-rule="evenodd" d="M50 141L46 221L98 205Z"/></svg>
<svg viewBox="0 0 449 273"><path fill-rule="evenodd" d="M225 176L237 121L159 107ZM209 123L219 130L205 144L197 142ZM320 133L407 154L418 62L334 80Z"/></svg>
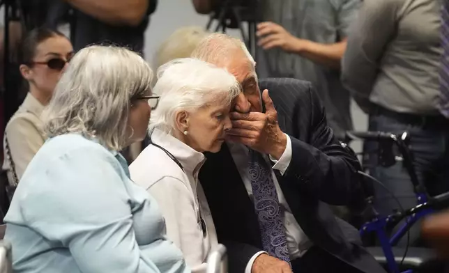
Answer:
<svg viewBox="0 0 449 273"><path fill-rule="evenodd" d="M370 116L370 131L383 131L401 134L409 132L411 139L409 148L414 157L414 167L418 180L425 185L431 196L449 191L449 120L443 116L418 116L399 114L378 107ZM380 180L390 192L393 192L399 203L406 210L417 204L416 195L409 174L401 162L390 167L378 165L378 143L367 141L364 146L370 164L370 173ZM395 149L395 154L399 155ZM381 215L388 215L399 210L397 201L383 187L374 184L376 210ZM419 242L420 225L413 225L410 233L411 242ZM399 245L406 244L406 236Z"/></svg>

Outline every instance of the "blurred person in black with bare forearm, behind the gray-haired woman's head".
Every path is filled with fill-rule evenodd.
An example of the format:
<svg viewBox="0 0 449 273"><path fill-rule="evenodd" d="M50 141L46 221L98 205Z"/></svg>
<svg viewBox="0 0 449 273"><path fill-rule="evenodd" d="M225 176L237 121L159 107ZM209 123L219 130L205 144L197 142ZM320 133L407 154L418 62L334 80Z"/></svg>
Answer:
<svg viewBox="0 0 449 273"><path fill-rule="evenodd" d="M158 0L45 0L52 13L46 24L56 28L72 8L70 33L75 51L87 45L112 43L143 53L144 32Z"/></svg>

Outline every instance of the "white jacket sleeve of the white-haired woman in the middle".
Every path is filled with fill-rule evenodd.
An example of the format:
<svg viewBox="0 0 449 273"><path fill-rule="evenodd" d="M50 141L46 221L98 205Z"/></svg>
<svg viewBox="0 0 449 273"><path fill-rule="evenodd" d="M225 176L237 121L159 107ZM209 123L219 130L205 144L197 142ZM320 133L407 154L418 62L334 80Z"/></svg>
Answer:
<svg viewBox="0 0 449 273"><path fill-rule="evenodd" d="M167 226L167 237L181 249L192 272L205 272L203 232L197 221L195 199L178 178L165 176L147 190L158 202Z"/></svg>

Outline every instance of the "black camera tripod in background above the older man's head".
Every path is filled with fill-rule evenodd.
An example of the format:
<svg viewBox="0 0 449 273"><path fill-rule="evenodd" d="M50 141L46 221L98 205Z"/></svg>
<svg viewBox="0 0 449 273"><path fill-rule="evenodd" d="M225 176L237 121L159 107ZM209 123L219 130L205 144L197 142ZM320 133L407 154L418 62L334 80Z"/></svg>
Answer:
<svg viewBox="0 0 449 273"><path fill-rule="evenodd" d="M206 29L211 31L214 20L218 22L214 32L220 29L223 33L226 29L240 29L243 41L255 60L257 56L256 28L259 19L257 10L257 0L223 0L211 13ZM248 22L248 31L245 31L243 22Z"/></svg>

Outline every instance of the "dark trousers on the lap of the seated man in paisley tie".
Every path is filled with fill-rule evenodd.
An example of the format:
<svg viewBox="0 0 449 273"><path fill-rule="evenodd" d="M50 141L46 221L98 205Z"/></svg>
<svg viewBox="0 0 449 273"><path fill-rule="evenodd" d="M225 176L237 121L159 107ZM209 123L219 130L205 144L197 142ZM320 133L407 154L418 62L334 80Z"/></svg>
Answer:
<svg viewBox="0 0 449 273"><path fill-rule="evenodd" d="M291 267L294 273L360 273L356 268L316 246L310 248L303 257L292 260Z"/></svg>

